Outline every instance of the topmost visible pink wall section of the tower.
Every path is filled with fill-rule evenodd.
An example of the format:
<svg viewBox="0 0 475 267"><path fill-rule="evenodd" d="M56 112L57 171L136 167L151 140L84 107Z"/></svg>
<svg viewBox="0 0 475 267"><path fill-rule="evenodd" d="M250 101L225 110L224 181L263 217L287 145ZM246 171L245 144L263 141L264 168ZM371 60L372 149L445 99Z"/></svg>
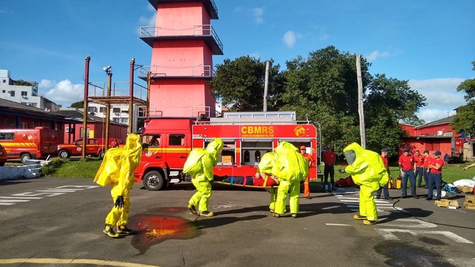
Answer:
<svg viewBox="0 0 475 267"><path fill-rule="evenodd" d="M158 4L157 35L192 35L193 30L200 29L197 25L209 24L208 12L201 1Z"/></svg>

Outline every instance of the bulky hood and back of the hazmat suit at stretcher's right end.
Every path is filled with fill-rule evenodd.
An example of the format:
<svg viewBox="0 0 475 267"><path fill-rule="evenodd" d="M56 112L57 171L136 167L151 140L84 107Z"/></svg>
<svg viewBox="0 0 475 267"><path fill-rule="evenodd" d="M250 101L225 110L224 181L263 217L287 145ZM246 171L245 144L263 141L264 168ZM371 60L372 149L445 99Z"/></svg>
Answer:
<svg viewBox="0 0 475 267"><path fill-rule="evenodd" d="M304 180L308 176L308 163L298 148L282 141L276 147L277 166L280 179L293 182Z"/></svg>

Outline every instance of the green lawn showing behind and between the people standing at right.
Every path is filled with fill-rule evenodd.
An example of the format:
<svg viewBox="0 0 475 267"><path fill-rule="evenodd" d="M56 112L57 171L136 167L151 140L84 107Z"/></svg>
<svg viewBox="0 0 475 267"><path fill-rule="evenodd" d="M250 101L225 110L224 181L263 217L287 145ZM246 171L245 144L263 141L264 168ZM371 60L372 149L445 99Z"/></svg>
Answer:
<svg viewBox="0 0 475 267"><path fill-rule="evenodd" d="M447 183L453 183L459 179L472 179L475 177L475 168L470 168L467 171L463 171L462 169L468 164L447 164L442 167L442 180ZM344 166L335 166L335 181L339 178L347 178L347 174L340 174L338 173L338 169L344 168ZM320 170L323 172L323 166L320 166ZM393 179L399 177L399 168L397 166L390 166L389 171L391 172L391 177ZM423 178L423 184L424 178Z"/></svg>

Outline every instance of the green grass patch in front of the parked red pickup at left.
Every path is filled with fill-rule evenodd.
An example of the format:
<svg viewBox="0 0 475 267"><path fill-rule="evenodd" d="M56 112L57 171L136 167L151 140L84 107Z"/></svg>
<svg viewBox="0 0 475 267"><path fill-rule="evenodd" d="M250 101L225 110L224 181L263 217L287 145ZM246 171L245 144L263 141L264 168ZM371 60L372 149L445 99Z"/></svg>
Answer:
<svg viewBox="0 0 475 267"><path fill-rule="evenodd" d="M101 162L102 160L98 158L87 158L86 161L55 158L52 160L52 164L43 167L47 168L47 173L45 173L45 169L42 169L42 172L49 177L94 178Z"/></svg>

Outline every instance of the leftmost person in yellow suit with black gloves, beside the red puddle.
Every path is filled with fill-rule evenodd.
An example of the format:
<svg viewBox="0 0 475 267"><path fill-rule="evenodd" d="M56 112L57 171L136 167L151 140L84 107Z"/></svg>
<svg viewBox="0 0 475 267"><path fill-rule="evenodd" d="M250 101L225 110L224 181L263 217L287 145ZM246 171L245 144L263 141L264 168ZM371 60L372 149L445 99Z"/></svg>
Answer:
<svg viewBox="0 0 475 267"><path fill-rule="evenodd" d="M105 153L94 182L100 186L110 184L110 194L114 207L105 218L103 232L110 237L132 234L127 228L130 208L130 190L135 182L133 172L140 164L142 156L141 138L138 134L129 134L123 147L110 148ZM117 226L117 232L112 227Z"/></svg>

